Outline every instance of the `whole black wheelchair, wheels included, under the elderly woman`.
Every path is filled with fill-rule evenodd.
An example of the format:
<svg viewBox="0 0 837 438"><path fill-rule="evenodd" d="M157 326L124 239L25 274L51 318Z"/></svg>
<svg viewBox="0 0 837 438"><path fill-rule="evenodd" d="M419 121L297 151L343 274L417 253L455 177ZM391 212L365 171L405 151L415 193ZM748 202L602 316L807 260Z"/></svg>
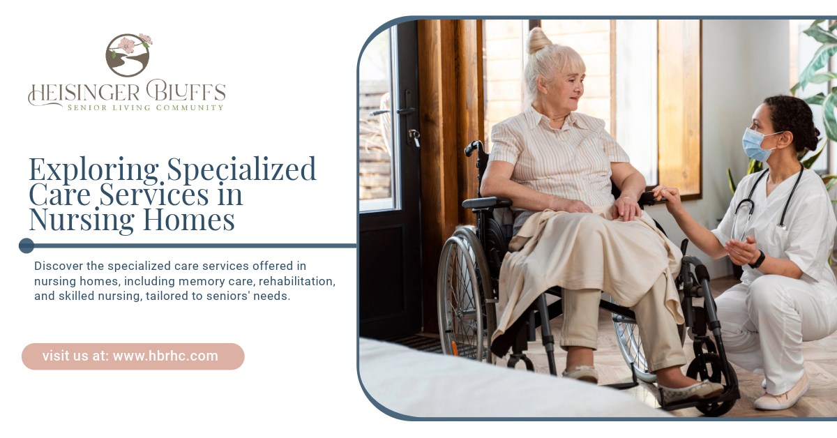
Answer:
<svg viewBox="0 0 837 438"><path fill-rule="evenodd" d="M477 152L477 179L478 183L481 183L485 167L488 166L489 154L485 153L482 142L479 141L471 142L465 148L466 157L471 157L473 152ZM615 198L619 198L618 192L614 185ZM645 205L654 205L655 202L660 201L655 201L652 193L643 193L639 199L639 206L644 209ZM540 327L549 374L557 376L555 340L549 321L562 314L561 288L556 286L544 291L526 312L492 343L491 335L497 327L496 303L500 267L513 234L513 218L509 209L511 199L483 198L478 188L477 198L465 200L462 206L476 214L476 227L475 232L468 227L456 229L445 242L439 260L437 297L439 337L443 353L495 363L496 358L505 357L511 348L507 367L515 368L516 364L522 361L526 369L533 372L534 365L526 358L524 352L528 343L536 342L536 330ZM663 231L660 224L656 225ZM665 231L663 233L665 234ZM688 240L683 240L680 245L684 254L687 245ZM660 408L680 410L695 407L707 416L724 415L741 396L737 376L727 361L721 341L721 323L716 315L706 266L696 257L684 255L675 285L686 320L678 327L680 342L684 343L686 331L690 328L694 339L695 359L689 364L686 375L691 379L708 379L714 383L721 383L724 385L724 392L713 399L676 403L666 403L660 392ZM547 305L547 294L557 296L559 300ZM703 307L693 306L694 298L703 298ZM638 380L655 384L656 376L648 371L634 312L628 307L619 306L612 298L609 301L601 300L599 308L613 315L619 350L632 374L631 382L608 386L628 389L637 386ZM707 328L711 331L714 342L708 335Z"/></svg>

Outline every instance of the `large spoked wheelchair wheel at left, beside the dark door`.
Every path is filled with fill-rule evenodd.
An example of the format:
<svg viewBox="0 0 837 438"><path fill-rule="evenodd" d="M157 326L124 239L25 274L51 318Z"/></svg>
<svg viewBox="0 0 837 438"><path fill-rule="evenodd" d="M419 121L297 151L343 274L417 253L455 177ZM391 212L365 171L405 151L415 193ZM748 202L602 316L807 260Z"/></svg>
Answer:
<svg viewBox="0 0 837 438"><path fill-rule="evenodd" d="M480 293L470 245L451 236L442 248L436 288L439 338L444 354L484 360L485 332Z"/></svg>

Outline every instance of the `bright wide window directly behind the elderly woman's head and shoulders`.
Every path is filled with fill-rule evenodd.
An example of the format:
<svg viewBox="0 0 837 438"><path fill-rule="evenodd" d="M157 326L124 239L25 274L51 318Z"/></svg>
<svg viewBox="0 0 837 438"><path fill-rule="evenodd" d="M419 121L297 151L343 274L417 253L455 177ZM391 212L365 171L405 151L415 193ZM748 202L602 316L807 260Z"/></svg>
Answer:
<svg viewBox="0 0 837 438"><path fill-rule="evenodd" d="M587 67L578 111L598 117L645 177L658 180L657 21L541 20L554 44L568 45ZM516 116L524 100L529 20L485 20L485 134Z"/></svg>

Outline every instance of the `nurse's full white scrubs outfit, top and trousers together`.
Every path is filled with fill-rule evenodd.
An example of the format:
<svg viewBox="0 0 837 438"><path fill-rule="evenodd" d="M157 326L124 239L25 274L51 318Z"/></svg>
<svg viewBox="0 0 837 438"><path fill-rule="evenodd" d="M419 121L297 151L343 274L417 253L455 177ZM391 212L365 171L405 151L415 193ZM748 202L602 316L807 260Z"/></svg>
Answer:
<svg viewBox="0 0 837 438"><path fill-rule="evenodd" d="M779 183L767 195L769 175L743 178L718 228L712 230L721 245L741 234L752 235L765 255L791 260L802 278L766 275L744 265L742 283L716 298L721 336L730 362L753 373L764 373L768 394L781 395L802 379L802 343L825 338L837 330L837 281L828 264L837 219L828 192L816 173L805 170L790 198L784 227L785 203L797 176ZM749 207L735 209L752 191ZM732 225L735 223L735 236Z"/></svg>

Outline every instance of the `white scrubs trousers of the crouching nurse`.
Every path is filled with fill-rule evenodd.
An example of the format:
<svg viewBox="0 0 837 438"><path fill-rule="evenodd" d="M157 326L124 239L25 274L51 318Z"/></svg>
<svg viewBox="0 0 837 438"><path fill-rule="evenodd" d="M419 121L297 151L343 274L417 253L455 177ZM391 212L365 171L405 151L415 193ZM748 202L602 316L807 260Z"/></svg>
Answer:
<svg viewBox="0 0 837 438"><path fill-rule="evenodd" d="M784 394L802 379L804 341L837 331L837 294L786 276L732 286L715 302L727 358L764 373L768 394Z"/></svg>

